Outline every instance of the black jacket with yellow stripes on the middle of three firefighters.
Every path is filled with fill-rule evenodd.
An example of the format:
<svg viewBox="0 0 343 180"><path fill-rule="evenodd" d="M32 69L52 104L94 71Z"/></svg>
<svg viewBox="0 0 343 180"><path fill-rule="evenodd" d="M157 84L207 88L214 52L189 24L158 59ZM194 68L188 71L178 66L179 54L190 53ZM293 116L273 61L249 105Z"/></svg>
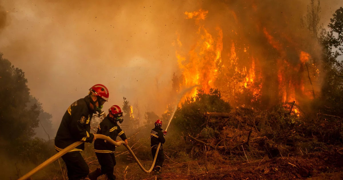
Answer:
<svg viewBox="0 0 343 180"><path fill-rule="evenodd" d="M116 121L109 117L109 114L98 125L97 134L103 134L116 141L117 136L120 136L122 140L126 140L124 131L119 127ZM106 142L106 140L96 139L94 141L94 151L96 153L113 153L116 150L116 146Z"/></svg>

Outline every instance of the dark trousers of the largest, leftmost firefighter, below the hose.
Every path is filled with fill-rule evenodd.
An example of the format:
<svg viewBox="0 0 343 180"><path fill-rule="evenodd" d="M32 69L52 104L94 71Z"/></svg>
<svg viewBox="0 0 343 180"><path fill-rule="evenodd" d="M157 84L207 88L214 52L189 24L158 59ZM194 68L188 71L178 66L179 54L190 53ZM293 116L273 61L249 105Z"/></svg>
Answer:
<svg viewBox="0 0 343 180"><path fill-rule="evenodd" d="M84 179L88 175L88 165L79 151L66 153L62 159L67 166L69 180Z"/></svg>

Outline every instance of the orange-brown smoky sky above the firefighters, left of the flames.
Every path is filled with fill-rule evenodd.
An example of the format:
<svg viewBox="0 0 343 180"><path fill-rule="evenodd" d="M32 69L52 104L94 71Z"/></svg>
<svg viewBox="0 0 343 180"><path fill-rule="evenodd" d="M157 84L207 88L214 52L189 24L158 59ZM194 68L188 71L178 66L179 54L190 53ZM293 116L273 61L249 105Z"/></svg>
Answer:
<svg viewBox="0 0 343 180"><path fill-rule="evenodd" d="M273 3L261 6L268 10L277 4L269 2ZM285 4L294 14L305 15L309 2ZM138 103L141 114L161 115L174 98L171 79L179 71L173 43L178 34L189 37L188 44L193 40L187 33L194 23L184 13L202 8L213 17L208 21L223 24L227 15L223 4L242 17L243 9L234 7L244 8L244 3L5 0L0 3L0 52L23 69L31 94L52 114L55 127L68 106L97 83L110 92L104 109L121 106L122 97L127 97L131 105ZM341 4L342 0L321 2L324 26ZM216 8L224 10L218 13Z"/></svg>

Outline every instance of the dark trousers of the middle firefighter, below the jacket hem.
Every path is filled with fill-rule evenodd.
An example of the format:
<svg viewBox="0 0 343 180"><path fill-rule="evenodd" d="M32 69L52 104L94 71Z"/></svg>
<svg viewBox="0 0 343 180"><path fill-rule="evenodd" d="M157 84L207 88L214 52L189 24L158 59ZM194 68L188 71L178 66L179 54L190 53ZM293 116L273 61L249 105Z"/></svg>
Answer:
<svg viewBox="0 0 343 180"><path fill-rule="evenodd" d="M116 165L116 157L114 153L95 153L101 166L101 172L107 176L109 180L115 180L113 175L114 166Z"/></svg>

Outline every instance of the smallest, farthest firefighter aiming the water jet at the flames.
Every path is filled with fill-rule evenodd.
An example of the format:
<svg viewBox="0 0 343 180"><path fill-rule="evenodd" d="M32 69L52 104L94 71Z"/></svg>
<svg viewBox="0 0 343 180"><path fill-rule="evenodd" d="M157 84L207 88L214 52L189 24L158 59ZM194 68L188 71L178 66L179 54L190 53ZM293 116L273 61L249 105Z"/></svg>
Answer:
<svg viewBox="0 0 343 180"><path fill-rule="evenodd" d="M155 172L159 172L161 170L163 161L164 161L164 153L163 153L163 147L162 144L166 142L164 139L164 136L167 134L167 131L162 132L162 121L157 119L155 122L155 128L151 130L150 137L151 137L151 154L152 158L154 159L156 151L157 151L157 146L159 143L161 143L161 146L159 147L159 151L157 153L157 159L155 166L153 170Z"/></svg>

